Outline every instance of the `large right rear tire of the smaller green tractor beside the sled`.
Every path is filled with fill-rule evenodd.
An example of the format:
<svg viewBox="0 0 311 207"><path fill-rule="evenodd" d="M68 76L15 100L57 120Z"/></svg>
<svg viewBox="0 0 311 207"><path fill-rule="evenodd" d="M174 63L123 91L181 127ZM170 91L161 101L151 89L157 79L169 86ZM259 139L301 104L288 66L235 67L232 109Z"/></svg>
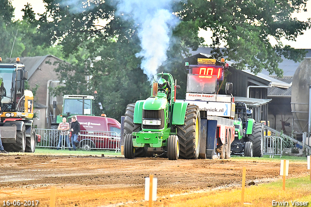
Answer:
<svg viewBox="0 0 311 207"><path fill-rule="evenodd" d="M253 155L256 157L262 157L262 147L263 147L263 125L262 123L254 123L253 133L248 135L248 139L253 142Z"/></svg>

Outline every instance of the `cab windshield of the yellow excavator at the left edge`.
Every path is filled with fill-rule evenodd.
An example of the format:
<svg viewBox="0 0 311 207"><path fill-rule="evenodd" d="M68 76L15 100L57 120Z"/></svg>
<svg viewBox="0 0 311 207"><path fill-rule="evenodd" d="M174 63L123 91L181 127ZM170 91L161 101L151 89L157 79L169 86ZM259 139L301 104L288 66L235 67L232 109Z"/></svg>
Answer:
<svg viewBox="0 0 311 207"><path fill-rule="evenodd" d="M0 86L0 93L2 96L1 103L7 104L12 100L12 93L14 92L12 89L12 77L14 69L0 68L0 76L3 79L2 84Z"/></svg>

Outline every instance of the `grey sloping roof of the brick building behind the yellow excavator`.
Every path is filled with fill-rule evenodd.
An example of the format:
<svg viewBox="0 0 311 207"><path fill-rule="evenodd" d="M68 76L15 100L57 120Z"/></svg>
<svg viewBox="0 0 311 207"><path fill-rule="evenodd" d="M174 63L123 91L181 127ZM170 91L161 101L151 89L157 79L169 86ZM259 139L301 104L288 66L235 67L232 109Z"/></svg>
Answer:
<svg viewBox="0 0 311 207"><path fill-rule="evenodd" d="M35 57L21 57L20 62L25 65L25 70L28 71L28 78L30 78L39 66L45 61L47 57L54 57L59 61L63 61L54 55L48 54L44 56L35 56Z"/></svg>

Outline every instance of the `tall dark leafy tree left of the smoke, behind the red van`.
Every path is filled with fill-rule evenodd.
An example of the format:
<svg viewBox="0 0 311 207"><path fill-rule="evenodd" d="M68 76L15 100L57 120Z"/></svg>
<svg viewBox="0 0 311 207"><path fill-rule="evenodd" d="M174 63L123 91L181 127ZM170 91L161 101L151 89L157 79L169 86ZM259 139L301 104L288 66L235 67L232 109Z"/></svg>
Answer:
<svg viewBox="0 0 311 207"><path fill-rule="evenodd" d="M76 5L82 6L81 2ZM110 4L89 3L87 8L77 8L61 1L48 2L38 32L49 38L40 41L46 45L58 42L64 56L76 58L73 65L61 64L56 70L65 85L55 88L55 94L93 95L96 90L96 102L103 104L104 113L120 121L126 104L150 94L150 84L135 55L140 50L137 32L131 22L110 19L114 12ZM99 18L110 22L99 26L95 23Z"/></svg>

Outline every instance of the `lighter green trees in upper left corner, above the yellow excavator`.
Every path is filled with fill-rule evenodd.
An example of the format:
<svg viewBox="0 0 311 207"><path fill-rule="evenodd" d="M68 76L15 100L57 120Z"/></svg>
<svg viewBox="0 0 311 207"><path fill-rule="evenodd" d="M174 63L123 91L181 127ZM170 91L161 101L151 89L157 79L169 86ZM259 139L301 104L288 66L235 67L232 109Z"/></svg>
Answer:
<svg viewBox="0 0 311 207"><path fill-rule="evenodd" d="M37 34L36 31L39 24L29 3L22 9L23 20L17 21L13 20L14 8L11 1L0 0L0 3L0 56L3 59L46 54L63 57L61 46L48 45L44 47L41 45L40 34Z"/></svg>

